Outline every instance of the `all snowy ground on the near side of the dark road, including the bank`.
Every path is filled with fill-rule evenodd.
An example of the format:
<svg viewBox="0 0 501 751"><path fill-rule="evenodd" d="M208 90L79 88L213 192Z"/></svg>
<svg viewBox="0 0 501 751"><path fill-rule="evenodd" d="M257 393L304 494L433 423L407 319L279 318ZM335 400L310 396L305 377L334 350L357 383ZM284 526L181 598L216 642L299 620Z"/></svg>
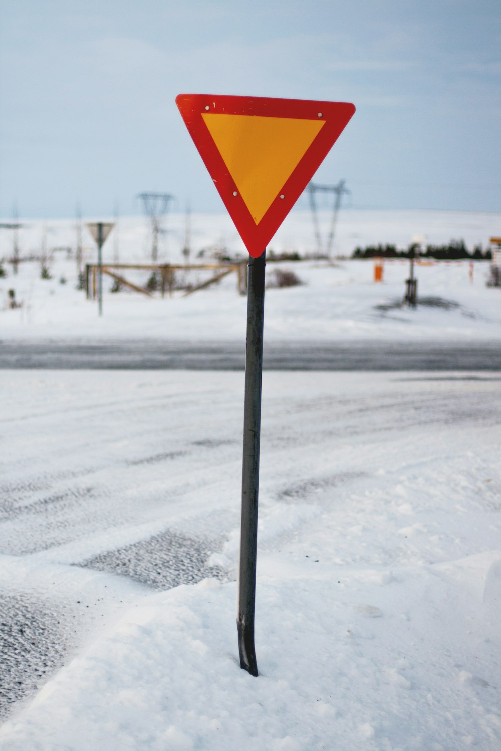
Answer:
<svg viewBox="0 0 501 751"><path fill-rule="evenodd" d="M499 376L264 373L257 679L243 374L2 386L2 751L499 749Z"/></svg>

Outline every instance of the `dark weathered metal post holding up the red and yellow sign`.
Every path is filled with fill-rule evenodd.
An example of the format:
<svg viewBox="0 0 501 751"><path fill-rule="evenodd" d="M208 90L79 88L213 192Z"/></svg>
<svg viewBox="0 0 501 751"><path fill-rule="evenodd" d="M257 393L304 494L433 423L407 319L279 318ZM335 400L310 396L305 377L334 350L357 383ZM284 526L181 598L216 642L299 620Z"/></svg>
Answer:
<svg viewBox="0 0 501 751"><path fill-rule="evenodd" d="M243 413L242 521L238 579L240 667L258 675L254 647L255 569L258 541L259 438L263 370L265 255L249 259L247 293L246 386Z"/></svg>

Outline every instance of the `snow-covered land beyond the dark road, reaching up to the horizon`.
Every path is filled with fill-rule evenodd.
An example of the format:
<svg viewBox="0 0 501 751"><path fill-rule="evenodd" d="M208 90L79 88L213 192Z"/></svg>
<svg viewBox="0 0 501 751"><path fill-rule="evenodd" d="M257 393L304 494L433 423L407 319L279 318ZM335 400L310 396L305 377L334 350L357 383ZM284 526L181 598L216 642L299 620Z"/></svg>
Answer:
<svg viewBox="0 0 501 751"><path fill-rule="evenodd" d="M355 216L354 216L355 215ZM328 216L323 215L324 231ZM177 226L161 246L161 260L183 262L183 216L173 216L168 226ZM194 216L192 262L212 260L210 253L218 244L220 227L228 227L224 215ZM74 256L75 232L71 222L54 222L53 234L47 231L47 247L59 247L50 264L52 279L40 279L36 261L20 264L17 276L4 261L8 276L0 279L0 340L1 339L171 339L183 341L242 341L246 327L246 299L238 294L237 274L232 273L216 287L183 297L162 300L157 294L148 299L135 292L110 294L113 285L104 277L103 317L98 318L94 301L85 299L75 289L77 270L74 257L68 258L65 246ZM397 243L406 247L413 233L421 231L429 243L448 243L464 239L469 249L481 243L488 245L492 234L499 234L500 214L424 213L424 212L357 212L340 214L338 252L351 255L355 245ZM199 227L198 234L195 227ZM20 231L20 255L40 252L41 225ZM29 234L31 232L31 235ZM229 228L228 228L229 232ZM11 254L11 233L4 231L0 256ZM23 234L26 236L23 239ZM31 239L30 239L31 238ZM240 246L231 235L230 246ZM293 241L294 240L294 241ZM96 249L87 237L86 261L96 261ZM104 245L104 261L113 261L113 233ZM24 244L23 244L24 243ZM123 262L147 263L149 237L141 219L122 219L119 225L119 258ZM211 248L204 258L196 258L199 249ZM311 219L307 213L294 213L286 220L276 237L276 250L297 249L308 252L312 247ZM198 250L197 250L198 249ZM243 254L242 254L243 257ZM416 267L418 296L422 303L416 310L399 307L403 300L409 261L385 262L383 282L373 282L373 261L338 260L334 264L321 261L284 263L303 285L294 288L269 289L265 309L267 341L325 339L449 339L454 341L498 339L501 334L501 295L499 289L486 287L489 264L468 262L421 264ZM273 281L276 264L267 264L267 275ZM144 285L149 272L122 272L132 282ZM180 276L183 276L180 272ZM200 277L200 279L198 279ZM206 277L203 277L206 278ZM61 280L65 280L65 284ZM189 281L201 281L192 273ZM8 290L14 289L23 306L6 309ZM3 309L2 309L3 308Z"/></svg>

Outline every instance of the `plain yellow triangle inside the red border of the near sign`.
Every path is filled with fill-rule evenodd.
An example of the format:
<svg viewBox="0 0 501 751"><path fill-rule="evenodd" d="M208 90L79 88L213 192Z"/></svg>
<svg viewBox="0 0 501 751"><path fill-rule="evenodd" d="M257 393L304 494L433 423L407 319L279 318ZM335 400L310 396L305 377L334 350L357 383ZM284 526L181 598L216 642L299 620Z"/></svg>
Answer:
<svg viewBox="0 0 501 751"><path fill-rule="evenodd" d="M202 117L256 225L325 122L216 113Z"/></svg>

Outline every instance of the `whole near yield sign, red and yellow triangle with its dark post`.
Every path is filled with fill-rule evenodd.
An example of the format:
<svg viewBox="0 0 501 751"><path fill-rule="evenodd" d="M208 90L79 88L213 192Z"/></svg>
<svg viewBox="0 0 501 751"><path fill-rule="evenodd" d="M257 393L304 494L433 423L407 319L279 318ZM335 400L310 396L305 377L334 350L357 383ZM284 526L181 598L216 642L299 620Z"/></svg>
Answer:
<svg viewBox="0 0 501 751"><path fill-rule="evenodd" d="M257 676L254 615L265 249L355 106L215 94L180 94L176 104L251 257L237 630L240 667Z"/></svg>

